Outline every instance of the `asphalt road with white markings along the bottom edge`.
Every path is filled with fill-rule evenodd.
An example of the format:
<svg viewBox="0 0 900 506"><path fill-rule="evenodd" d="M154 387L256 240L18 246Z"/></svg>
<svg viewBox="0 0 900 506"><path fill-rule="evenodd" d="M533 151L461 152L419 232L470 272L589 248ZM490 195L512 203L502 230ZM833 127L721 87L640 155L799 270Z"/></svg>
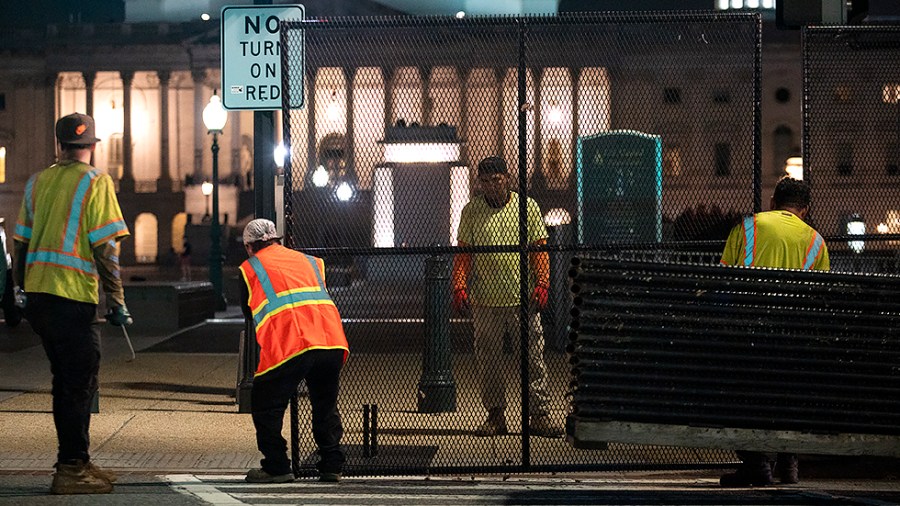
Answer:
<svg viewBox="0 0 900 506"><path fill-rule="evenodd" d="M595 474L590 477L347 478L252 485L243 476L120 477L109 495L51 496L47 475L0 475L0 504L16 505L869 505L900 502L890 482L817 481L790 487L722 489L713 476Z"/></svg>

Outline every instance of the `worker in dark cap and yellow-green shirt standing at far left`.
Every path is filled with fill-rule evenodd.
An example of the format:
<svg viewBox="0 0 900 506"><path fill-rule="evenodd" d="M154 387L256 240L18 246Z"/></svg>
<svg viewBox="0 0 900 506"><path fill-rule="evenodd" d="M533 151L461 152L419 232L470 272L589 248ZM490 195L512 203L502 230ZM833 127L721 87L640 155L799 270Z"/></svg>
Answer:
<svg viewBox="0 0 900 506"><path fill-rule="evenodd" d="M115 476L94 465L88 453L100 370L100 330L93 323L100 282L107 321L131 323L119 274L119 241L129 233L112 179L90 165L100 140L93 118L60 118L56 139L58 161L25 184L13 236L17 299L53 373L59 452L51 492L108 493Z"/></svg>

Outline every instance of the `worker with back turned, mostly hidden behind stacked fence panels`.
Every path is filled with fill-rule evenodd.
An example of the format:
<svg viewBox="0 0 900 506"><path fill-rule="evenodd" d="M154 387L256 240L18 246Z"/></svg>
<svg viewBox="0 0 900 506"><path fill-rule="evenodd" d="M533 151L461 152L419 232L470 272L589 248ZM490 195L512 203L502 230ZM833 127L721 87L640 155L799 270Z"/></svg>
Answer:
<svg viewBox="0 0 900 506"><path fill-rule="evenodd" d="M746 267L829 270L825 241L804 222L809 204L810 191L806 182L782 178L775 185L772 210L747 216L731 230L722 253L722 263ZM720 483L723 487L774 483L772 466L766 454L751 451L738 451L737 454L741 465L737 472L722 475ZM797 455L778 454L774 471L781 483L799 481L797 464Z"/></svg>

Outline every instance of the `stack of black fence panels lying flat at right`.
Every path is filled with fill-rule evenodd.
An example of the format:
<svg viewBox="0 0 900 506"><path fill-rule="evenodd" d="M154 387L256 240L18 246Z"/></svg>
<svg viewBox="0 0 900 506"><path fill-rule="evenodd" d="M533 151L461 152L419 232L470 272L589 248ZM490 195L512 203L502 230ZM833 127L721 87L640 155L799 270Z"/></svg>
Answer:
<svg viewBox="0 0 900 506"><path fill-rule="evenodd" d="M900 434L900 278L575 263L577 419Z"/></svg>

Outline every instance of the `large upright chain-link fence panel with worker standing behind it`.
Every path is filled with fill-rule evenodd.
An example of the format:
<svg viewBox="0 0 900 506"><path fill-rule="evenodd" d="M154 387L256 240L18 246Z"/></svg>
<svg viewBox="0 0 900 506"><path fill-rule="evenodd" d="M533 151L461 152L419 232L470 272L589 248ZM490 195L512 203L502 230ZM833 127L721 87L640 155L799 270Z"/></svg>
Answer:
<svg viewBox="0 0 900 506"><path fill-rule="evenodd" d="M566 270L712 258L760 208L758 15L311 20L282 47L305 104L283 111L286 240L325 258L345 320L348 472L733 460L559 437Z"/></svg>

